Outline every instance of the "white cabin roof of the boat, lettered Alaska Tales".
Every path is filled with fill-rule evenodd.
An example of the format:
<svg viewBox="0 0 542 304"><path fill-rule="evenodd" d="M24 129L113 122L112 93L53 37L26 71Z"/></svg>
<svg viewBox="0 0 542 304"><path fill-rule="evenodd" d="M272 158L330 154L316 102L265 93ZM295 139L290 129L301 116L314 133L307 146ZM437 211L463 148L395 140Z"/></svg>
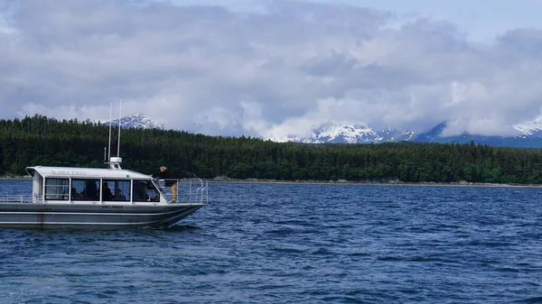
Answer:
<svg viewBox="0 0 542 304"><path fill-rule="evenodd" d="M152 179L152 175L139 173L133 170L112 169L112 168L77 168L77 167L47 167L34 166L26 167L26 171L33 175L38 172L44 178L97 178L97 179Z"/></svg>

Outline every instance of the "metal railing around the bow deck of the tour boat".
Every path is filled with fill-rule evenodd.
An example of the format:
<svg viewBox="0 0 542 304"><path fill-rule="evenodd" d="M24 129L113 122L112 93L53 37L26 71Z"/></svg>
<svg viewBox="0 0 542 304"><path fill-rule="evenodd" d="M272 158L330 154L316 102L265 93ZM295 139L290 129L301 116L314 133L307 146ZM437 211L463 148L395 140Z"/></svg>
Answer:
<svg viewBox="0 0 542 304"><path fill-rule="evenodd" d="M154 180L168 202L172 203L204 203L209 202L209 183L207 180ZM168 186L166 186L168 185ZM173 186L171 186L173 185ZM173 200L173 189L176 198Z"/></svg>

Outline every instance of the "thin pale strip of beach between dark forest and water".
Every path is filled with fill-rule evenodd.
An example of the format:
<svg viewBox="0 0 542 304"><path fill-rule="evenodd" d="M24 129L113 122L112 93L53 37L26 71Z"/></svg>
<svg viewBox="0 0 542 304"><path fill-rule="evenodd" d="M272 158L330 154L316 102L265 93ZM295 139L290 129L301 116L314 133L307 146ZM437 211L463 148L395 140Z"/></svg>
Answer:
<svg viewBox="0 0 542 304"><path fill-rule="evenodd" d="M30 176L0 176L0 180L32 180ZM238 183L238 184L290 184L290 185L368 185L368 186L428 186L428 187L493 187L493 188L542 188L542 185L534 184L497 184L475 182L403 182L391 180L389 182L378 181L348 181L348 180L235 180L229 178L214 178L207 180L210 183Z"/></svg>

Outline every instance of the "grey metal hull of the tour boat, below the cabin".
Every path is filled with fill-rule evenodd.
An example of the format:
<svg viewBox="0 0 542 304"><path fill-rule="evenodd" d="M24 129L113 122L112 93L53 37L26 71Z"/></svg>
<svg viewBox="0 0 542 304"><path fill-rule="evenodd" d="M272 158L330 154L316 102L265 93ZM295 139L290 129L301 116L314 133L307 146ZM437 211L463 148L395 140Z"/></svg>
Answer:
<svg viewBox="0 0 542 304"><path fill-rule="evenodd" d="M0 205L0 228L126 229L173 226L206 204L104 205L34 204Z"/></svg>

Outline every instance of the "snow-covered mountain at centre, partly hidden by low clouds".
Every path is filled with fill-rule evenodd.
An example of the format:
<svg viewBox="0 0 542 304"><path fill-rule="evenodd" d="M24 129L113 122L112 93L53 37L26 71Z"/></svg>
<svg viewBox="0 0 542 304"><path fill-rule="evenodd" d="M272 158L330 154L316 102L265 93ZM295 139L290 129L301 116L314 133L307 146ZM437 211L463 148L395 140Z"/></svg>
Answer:
<svg viewBox="0 0 542 304"><path fill-rule="evenodd" d="M292 137L296 143L387 143L412 140L416 134L408 130L388 128L375 131L358 125L326 124L313 131L308 138Z"/></svg>

